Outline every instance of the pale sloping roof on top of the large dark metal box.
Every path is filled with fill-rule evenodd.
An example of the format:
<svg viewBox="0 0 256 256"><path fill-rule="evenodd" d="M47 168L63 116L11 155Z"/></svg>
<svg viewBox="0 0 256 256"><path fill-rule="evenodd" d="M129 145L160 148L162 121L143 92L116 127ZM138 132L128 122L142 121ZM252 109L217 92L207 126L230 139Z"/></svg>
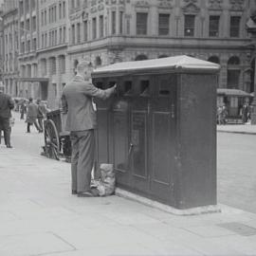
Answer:
<svg viewBox="0 0 256 256"><path fill-rule="evenodd" d="M94 70L93 76L98 76L102 74L115 75L115 73L137 73L139 71L154 71L159 69L167 70L202 70L217 72L220 69L219 64L213 64L207 61L202 61L196 58L192 58L186 55L146 60L146 61L136 61L136 62L123 62L117 64L110 64L106 66L99 67Z"/></svg>

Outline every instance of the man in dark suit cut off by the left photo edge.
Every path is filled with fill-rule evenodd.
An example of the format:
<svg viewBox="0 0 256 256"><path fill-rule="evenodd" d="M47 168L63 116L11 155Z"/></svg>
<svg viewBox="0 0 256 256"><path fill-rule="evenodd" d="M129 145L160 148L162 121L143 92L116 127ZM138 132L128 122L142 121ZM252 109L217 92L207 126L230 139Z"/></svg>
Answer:
<svg viewBox="0 0 256 256"><path fill-rule="evenodd" d="M10 145L9 118L11 117L10 110L13 108L14 101L0 88L0 130L4 131L5 142L8 148L12 148Z"/></svg>

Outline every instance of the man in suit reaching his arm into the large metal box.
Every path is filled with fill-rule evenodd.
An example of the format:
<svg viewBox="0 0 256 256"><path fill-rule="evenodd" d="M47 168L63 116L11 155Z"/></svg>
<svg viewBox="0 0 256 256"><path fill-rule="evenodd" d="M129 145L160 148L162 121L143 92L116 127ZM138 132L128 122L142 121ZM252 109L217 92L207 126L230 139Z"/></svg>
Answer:
<svg viewBox="0 0 256 256"><path fill-rule="evenodd" d="M77 66L77 75L64 86L62 105L67 114L65 130L70 131L72 143L71 173L72 193L78 196L95 196L90 190L91 172L94 163L96 113L92 98L105 100L114 94L116 85L106 90L91 82L90 64L82 61Z"/></svg>

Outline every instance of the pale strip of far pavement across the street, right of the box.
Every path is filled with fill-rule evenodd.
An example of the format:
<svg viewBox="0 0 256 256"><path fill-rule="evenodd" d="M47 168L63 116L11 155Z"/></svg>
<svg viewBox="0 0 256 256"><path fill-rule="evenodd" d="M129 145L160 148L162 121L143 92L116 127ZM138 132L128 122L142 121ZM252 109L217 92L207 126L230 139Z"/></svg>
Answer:
<svg viewBox="0 0 256 256"><path fill-rule="evenodd" d="M217 125L217 131L222 133L256 135L256 125L249 123Z"/></svg>

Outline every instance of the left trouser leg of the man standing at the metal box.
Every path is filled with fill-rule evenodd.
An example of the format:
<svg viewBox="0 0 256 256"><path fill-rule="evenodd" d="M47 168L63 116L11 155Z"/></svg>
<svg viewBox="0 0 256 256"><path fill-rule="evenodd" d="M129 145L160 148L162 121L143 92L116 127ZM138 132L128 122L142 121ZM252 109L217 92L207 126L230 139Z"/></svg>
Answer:
<svg viewBox="0 0 256 256"><path fill-rule="evenodd" d="M71 133L70 135L72 144L72 155L71 155L71 188L72 191L78 190L77 182L77 166L79 159L79 138Z"/></svg>

